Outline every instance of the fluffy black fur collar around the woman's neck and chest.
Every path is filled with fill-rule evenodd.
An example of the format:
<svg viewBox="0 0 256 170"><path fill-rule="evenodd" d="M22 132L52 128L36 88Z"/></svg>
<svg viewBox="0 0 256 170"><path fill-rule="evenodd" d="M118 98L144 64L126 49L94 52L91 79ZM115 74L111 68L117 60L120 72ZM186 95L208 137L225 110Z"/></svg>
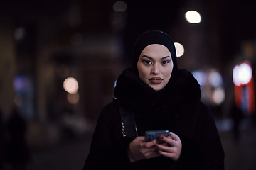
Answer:
<svg viewBox="0 0 256 170"><path fill-rule="evenodd" d="M177 123L178 111L183 111L200 101L201 89L191 72L179 69L174 84L164 90L155 91L129 68L117 79L114 96L120 103L132 108L134 113L144 115L148 130L171 130ZM169 127L170 123L174 127Z"/></svg>

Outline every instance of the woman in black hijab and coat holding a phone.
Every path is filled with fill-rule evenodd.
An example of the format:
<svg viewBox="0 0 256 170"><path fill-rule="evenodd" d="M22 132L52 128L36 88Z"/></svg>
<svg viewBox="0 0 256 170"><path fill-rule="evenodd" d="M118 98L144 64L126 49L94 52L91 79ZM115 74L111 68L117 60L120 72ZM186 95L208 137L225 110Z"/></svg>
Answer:
<svg viewBox="0 0 256 170"><path fill-rule="evenodd" d="M133 68L117 79L114 96L134 114L138 136L124 137L117 104L102 109L84 169L224 169L224 152L193 75L178 69L174 42L149 30L134 47ZM145 142L146 130L169 130Z"/></svg>

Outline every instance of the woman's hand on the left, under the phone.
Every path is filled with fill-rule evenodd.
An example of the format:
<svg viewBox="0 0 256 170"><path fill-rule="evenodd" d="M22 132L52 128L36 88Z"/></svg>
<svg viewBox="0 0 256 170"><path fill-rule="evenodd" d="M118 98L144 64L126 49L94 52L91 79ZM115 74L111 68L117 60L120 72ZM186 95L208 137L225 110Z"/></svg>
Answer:
<svg viewBox="0 0 256 170"><path fill-rule="evenodd" d="M145 137L136 137L129 144L128 157L131 162L161 156L156 147L156 140L150 142L144 142L144 140Z"/></svg>

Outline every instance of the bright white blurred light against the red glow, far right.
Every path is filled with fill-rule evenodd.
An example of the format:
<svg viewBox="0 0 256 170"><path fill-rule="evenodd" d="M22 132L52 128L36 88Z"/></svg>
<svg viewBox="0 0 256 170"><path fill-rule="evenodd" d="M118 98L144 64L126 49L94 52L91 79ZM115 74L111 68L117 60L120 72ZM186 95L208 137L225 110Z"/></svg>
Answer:
<svg viewBox="0 0 256 170"><path fill-rule="evenodd" d="M233 82L235 86L247 84L252 79L252 68L247 63L238 64L233 69Z"/></svg>

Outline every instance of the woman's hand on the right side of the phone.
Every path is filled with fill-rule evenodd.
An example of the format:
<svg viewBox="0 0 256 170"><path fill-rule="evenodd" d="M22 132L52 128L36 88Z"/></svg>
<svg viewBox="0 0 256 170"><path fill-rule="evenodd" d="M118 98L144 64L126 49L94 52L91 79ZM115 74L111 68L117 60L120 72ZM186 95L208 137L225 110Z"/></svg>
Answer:
<svg viewBox="0 0 256 170"><path fill-rule="evenodd" d="M181 140L178 135L170 132L168 137L161 136L160 140L164 141L165 145L156 144L156 147L159 148L159 154L177 161L181 156L182 148Z"/></svg>

